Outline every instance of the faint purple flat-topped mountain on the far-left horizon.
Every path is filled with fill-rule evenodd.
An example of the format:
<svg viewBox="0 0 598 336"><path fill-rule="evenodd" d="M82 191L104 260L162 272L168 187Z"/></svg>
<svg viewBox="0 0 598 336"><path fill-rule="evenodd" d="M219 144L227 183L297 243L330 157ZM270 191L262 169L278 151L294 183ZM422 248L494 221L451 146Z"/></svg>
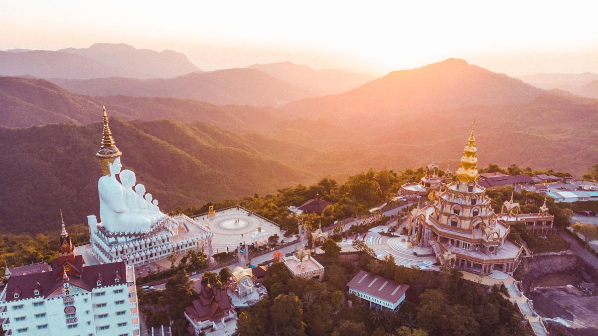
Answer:
<svg viewBox="0 0 598 336"><path fill-rule="evenodd" d="M41 78L167 78L200 71L187 56L172 50L136 49L96 43L89 48L0 51L0 75Z"/></svg>

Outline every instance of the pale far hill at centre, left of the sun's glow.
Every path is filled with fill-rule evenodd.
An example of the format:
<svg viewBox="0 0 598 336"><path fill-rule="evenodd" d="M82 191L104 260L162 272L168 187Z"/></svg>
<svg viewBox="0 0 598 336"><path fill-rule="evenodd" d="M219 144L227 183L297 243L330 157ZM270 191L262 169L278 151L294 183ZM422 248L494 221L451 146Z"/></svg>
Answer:
<svg viewBox="0 0 598 336"><path fill-rule="evenodd" d="M371 81L374 77L337 69L314 70L307 65L291 62L254 64L248 66L257 69L286 83L311 91L316 96L343 93Z"/></svg>

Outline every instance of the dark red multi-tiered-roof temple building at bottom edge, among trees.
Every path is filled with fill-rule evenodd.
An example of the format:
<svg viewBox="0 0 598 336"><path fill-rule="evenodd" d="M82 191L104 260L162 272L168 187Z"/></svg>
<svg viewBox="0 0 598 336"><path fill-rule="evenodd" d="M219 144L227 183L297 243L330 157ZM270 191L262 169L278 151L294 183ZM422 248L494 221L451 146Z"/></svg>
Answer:
<svg viewBox="0 0 598 336"><path fill-rule="evenodd" d="M237 329L237 312L230 303L226 289L202 285L199 299L191 301L185 308L185 317L191 325L188 332L193 335L233 335Z"/></svg>

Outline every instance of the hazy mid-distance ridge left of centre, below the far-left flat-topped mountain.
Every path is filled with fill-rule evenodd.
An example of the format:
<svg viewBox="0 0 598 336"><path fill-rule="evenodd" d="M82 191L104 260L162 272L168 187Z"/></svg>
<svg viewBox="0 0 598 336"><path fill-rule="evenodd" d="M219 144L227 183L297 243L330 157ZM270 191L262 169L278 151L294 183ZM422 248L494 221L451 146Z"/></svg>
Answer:
<svg viewBox="0 0 598 336"><path fill-rule="evenodd" d="M255 69L225 69L196 72L176 78L94 78L93 80L51 79L68 90L90 96L122 94L136 97L174 97L213 104L280 105L313 97L285 81Z"/></svg>

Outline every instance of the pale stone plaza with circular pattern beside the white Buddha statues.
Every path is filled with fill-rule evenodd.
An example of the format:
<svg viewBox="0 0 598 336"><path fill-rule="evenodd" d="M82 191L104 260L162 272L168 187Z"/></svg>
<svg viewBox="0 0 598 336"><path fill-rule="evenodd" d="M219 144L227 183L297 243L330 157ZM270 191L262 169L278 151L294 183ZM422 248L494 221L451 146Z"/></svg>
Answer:
<svg viewBox="0 0 598 336"><path fill-rule="evenodd" d="M212 216L208 214L196 216L195 221L209 221L209 228L213 232L212 248L214 253L225 252L227 248L233 251L239 243L248 245L262 245L268 242L268 237L277 234L280 239L282 231L273 222L264 219L243 207L231 207L217 210Z"/></svg>

